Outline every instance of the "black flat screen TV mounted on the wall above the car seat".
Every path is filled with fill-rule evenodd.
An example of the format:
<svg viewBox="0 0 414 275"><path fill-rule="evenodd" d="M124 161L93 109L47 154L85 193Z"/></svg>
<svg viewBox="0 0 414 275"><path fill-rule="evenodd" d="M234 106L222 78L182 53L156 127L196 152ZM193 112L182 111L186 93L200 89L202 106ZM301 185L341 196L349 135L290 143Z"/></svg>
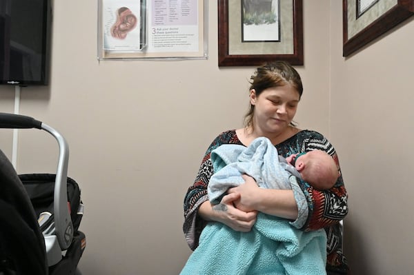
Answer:
<svg viewBox="0 0 414 275"><path fill-rule="evenodd" d="M48 85L50 0L0 1L0 84Z"/></svg>

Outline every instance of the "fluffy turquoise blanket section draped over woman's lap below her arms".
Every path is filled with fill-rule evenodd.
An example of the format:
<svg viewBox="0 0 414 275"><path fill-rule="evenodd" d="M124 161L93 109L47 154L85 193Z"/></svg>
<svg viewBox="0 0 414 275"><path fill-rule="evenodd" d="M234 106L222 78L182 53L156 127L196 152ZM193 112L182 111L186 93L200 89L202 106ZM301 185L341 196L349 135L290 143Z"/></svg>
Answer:
<svg viewBox="0 0 414 275"><path fill-rule="evenodd" d="M259 213L248 233L208 223L181 275L326 274L324 230L303 232Z"/></svg>

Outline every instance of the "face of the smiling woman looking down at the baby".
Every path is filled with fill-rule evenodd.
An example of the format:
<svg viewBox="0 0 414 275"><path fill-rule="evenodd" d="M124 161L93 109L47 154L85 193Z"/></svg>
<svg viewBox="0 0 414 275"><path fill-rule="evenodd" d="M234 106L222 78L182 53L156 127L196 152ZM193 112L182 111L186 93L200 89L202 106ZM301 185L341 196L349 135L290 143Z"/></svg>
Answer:
<svg viewBox="0 0 414 275"><path fill-rule="evenodd" d="M250 90L250 103L255 105L255 131L280 134L288 128L296 114L299 93L292 85L268 88L259 96Z"/></svg>

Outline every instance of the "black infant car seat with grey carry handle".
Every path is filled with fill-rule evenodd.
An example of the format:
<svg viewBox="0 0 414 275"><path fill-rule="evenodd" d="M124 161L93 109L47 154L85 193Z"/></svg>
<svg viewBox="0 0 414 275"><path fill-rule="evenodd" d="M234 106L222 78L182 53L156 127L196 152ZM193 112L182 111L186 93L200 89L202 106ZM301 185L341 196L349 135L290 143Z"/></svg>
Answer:
<svg viewBox="0 0 414 275"><path fill-rule="evenodd" d="M0 150L0 275L80 274L86 247L79 185L68 178L68 144L30 116L0 113L0 128L46 130L59 145L56 174L22 174Z"/></svg>

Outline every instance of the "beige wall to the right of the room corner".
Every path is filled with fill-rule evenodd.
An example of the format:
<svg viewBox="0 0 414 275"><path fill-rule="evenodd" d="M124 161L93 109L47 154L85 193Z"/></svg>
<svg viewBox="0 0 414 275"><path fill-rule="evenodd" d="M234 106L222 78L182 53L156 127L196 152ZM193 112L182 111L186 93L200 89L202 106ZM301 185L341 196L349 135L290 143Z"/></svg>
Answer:
<svg viewBox="0 0 414 275"><path fill-rule="evenodd" d="M349 193L345 251L355 274L411 274L414 18L341 57L331 1L331 141Z"/></svg>

